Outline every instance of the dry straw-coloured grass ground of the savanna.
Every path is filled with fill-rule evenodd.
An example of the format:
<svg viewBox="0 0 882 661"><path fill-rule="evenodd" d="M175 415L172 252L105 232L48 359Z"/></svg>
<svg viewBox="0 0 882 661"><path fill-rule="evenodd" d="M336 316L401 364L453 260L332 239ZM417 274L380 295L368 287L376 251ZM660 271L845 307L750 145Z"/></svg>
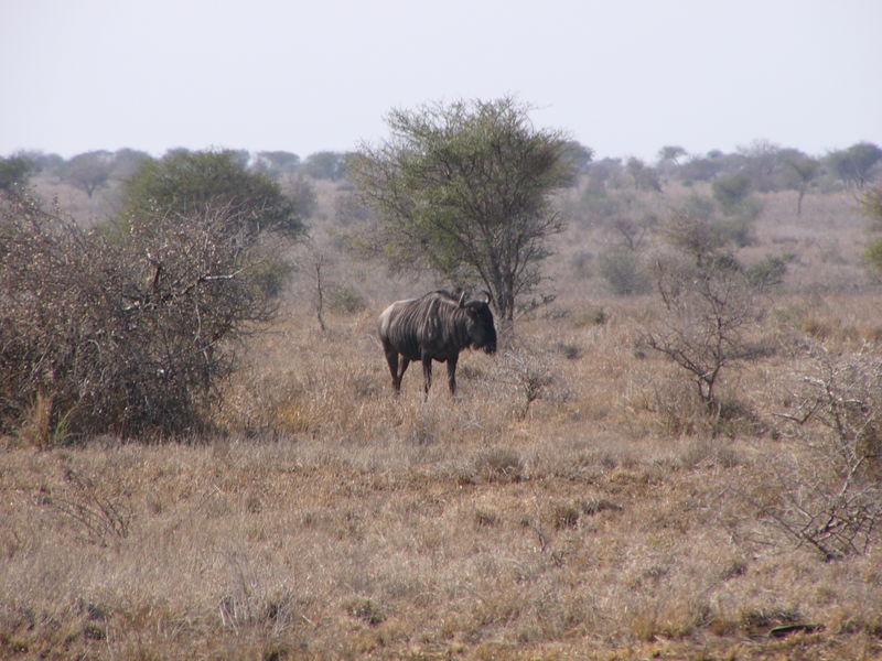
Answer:
<svg viewBox="0 0 882 661"><path fill-rule="evenodd" d="M882 350L867 221L848 193L800 219L795 194L763 199L740 257L796 259L716 433L638 342L658 302L607 294L592 256L614 237L573 223L557 300L516 351L462 357L456 401L437 378L423 402L418 367L392 398L374 335L433 283L338 259L326 330L304 270L244 347L227 433L6 440L0 658L882 658L882 546L825 562L764 516L826 433L785 416L799 347Z"/></svg>

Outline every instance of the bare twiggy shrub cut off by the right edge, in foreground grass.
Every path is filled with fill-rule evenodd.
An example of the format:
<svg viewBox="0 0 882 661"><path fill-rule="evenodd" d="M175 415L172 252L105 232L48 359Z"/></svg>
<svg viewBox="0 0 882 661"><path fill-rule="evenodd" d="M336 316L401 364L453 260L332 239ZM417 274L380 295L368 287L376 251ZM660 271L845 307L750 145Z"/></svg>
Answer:
<svg viewBox="0 0 882 661"><path fill-rule="evenodd" d="M797 375L787 420L810 452L779 470L782 496L766 517L825 560L865 553L882 521L882 358L818 345Z"/></svg>

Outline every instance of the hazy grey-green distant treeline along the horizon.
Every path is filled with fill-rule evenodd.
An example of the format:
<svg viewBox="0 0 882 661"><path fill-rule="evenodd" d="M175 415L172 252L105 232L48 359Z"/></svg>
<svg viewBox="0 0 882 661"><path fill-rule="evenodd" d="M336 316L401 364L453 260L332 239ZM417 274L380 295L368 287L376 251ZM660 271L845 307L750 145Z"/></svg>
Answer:
<svg viewBox="0 0 882 661"><path fill-rule="evenodd" d="M170 150L165 156L186 151ZM304 174L315 180L343 180L351 155L347 152L320 151L301 159L288 151L232 151L244 167L277 180L291 174ZM882 149L871 142L858 142L820 156L764 140L732 153L712 150L704 154L690 154L679 145L665 145L654 162L637 158L595 159L593 150L577 142L572 143L570 154L577 170L584 175L581 181L598 192L628 186L660 191L666 181L688 185L738 175L756 192L793 189L805 193L811 187L862 188L882 171ZM84 191L90 197L115 180L129 178L144 161L150 160L153 160L150 154L133 149L89 151L67 160L54 153L21 151L0 158L0 189L26 184L32 176L50 176Z"/></svg>

